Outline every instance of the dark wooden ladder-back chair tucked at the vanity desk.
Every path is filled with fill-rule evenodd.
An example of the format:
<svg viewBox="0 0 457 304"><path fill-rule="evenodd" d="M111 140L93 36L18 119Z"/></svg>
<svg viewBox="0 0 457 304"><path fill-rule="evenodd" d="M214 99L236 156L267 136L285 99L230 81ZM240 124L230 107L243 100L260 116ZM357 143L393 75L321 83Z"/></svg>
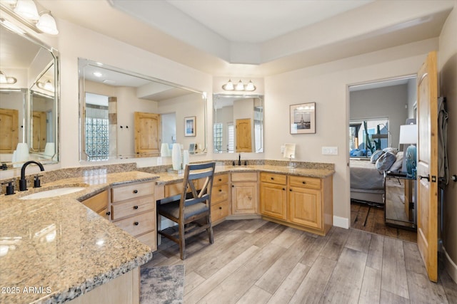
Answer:
<svg viewBox="0 0 457 304"><path fill-rule="evenodd" d="M157 214L178 224L177 233L175 229L162 231L158 229L158 233L179 244L181 260L186 258L186 239L189 237L206 230L209 243L214 243L211 224L211 189L215 166L215 162L186 165L181 194L158 201ZM199 179L204 179L201 189L196 187Z"/></svg>

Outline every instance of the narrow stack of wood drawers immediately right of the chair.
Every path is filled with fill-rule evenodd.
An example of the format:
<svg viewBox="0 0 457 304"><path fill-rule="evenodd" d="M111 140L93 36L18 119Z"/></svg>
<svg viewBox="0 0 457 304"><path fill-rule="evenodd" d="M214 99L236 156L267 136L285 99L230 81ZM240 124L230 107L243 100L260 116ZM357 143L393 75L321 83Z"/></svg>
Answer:
<svg viewBox="0 0 457 304"><path fill-rule="evenodd" d="M213 224L219 224L231 214L229 194L229 174L214 176L211 190L211 221Z"/></svg>

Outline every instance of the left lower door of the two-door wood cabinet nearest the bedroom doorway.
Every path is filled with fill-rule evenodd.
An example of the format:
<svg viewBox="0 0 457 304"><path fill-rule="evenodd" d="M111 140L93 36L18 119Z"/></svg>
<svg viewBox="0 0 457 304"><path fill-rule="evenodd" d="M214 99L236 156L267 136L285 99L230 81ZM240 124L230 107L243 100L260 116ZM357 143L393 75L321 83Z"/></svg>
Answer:
<svg viewBox="0 0 457 304"><path fill-rule="evenodd" d="M281 184L261 183L260 212L266 216L287 219L286 186Z"/></svg>

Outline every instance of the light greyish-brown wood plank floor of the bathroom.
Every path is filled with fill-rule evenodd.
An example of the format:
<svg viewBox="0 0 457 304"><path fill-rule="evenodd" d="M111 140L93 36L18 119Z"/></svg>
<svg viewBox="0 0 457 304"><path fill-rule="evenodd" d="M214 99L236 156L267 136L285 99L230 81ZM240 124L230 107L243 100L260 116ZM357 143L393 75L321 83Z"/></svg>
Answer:
<svg viewBox="0 0 457 304"><path fill-rule="evenodd" d="M333 227L316 236L261 219L224 221L188 241L164 240L149 262L184 264L184 303L457 303L440 267L426 276L416 243Z"/></svg>

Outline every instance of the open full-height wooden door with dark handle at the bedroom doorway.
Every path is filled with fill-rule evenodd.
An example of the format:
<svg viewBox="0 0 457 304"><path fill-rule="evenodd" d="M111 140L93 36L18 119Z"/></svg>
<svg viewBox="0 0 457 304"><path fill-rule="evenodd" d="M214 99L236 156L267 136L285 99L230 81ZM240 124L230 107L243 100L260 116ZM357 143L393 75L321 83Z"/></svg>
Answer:
<svg viewBox="0 0 457 304"><path fill-rule="evenodd" d="M438 74L436 52L418 72L417 244L428 278L438 281Z"/></svg>

